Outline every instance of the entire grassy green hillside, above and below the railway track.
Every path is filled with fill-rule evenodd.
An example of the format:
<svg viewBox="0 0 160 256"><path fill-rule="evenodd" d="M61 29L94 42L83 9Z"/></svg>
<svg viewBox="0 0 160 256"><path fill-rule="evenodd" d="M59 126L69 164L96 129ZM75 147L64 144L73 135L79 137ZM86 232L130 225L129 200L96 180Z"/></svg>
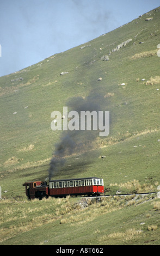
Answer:
<svg viewBox="0 0 160 256"><path fill-rule="evenodd" d="M155 196L138 201L109 197L81 209L76 198L27 202L22 186L48 176L55 145L63 136L63 131L51 130L52 111L63 114L63 106L73 106L77 99L94 102L93 95L99 93L102 109L110 112L109 135L97 137L91 148L66 155L65 166L54 178L100 176L106 194L157 191L159 21L157 8L84 45L0 77L0 185L5 199L0 201L1 244L159 244ZM94 217L89 213L93 209ZM95 235L89 237L94 227ZM126 240L127 232L131 239Z"/></svg>

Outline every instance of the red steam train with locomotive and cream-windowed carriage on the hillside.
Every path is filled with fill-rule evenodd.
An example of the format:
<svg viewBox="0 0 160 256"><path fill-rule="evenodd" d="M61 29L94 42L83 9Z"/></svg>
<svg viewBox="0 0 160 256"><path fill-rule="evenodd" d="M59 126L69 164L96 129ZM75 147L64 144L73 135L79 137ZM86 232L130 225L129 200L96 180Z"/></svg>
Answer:
<svg viewBox="0 0 160 256"><path fill-rule="evenodd" d="M43 197L100 196L104 192L103 179L97 177L25 182L28 199Z"/></svg>

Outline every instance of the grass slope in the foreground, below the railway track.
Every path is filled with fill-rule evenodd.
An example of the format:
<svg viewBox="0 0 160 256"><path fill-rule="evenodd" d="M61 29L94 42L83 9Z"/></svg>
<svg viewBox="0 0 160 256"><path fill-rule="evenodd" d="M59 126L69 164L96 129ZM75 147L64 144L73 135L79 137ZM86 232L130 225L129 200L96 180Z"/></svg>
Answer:
<svg viewBox="0 0 160 256"><path fill-rule="evenodd" d="M1 202L1 245L159 245L154 196L86 200Z"/></svg>

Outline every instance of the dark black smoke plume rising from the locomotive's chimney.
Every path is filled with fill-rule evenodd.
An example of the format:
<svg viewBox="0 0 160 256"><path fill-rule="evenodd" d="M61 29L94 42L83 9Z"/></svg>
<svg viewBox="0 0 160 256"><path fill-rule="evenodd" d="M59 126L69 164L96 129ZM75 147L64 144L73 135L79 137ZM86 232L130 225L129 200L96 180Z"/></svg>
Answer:
<svg viewBox="0 0 160 256"><path fill-rule="evenodd" d="M81 122L81 111L104 111L106 105L103 93L91 93L89 96L73 97L66 102L68 112L77 111L79 114L79 124ZM104 119L103 119L104 120ZM50 169L48 170L48 178L51 180L52 176L59 171L66 163L67 156L73 154L88 153L94 149L95 139L99 136L99 130L90 131L84 130L67 130L62 131L60 142L56 144L53 157L50 162Z"/></svg>

